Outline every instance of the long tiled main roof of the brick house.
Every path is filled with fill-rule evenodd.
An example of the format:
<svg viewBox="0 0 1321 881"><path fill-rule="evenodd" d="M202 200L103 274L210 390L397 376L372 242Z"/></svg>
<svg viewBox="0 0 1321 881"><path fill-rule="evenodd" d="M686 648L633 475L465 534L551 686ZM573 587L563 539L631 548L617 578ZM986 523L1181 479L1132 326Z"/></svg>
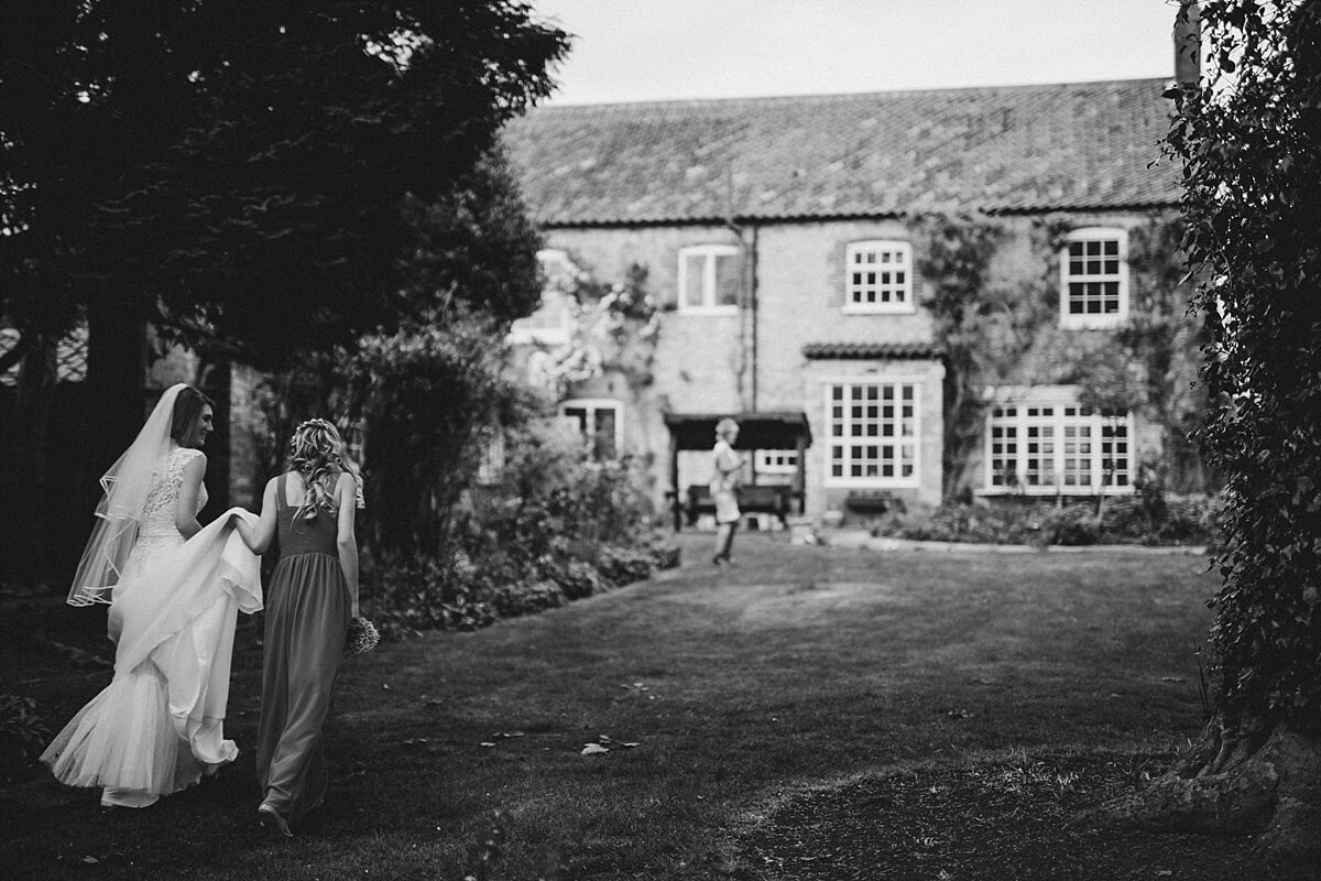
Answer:
<svg viewBox="0 0 1321 881"><path fill-rule="evenodd" d="M543 107L505 139L550 226L1173 205L1165 85Z"/></svg>

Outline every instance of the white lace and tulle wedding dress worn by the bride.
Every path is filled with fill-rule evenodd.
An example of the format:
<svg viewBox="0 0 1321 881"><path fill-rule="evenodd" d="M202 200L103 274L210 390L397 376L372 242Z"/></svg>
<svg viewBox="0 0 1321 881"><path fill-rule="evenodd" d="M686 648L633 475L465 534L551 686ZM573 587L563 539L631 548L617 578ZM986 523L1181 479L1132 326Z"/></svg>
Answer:
<svg viewBox="0 0 1321 881"><path fill-rule="evenodd" d="M238 756L223 734L234 625L262 608L260 571L229 516L188 543L174 526L197 456L176 449L152 476L108 613L115 678L41 756L62 783L103 787L102 804L147 807Z"/></svg>

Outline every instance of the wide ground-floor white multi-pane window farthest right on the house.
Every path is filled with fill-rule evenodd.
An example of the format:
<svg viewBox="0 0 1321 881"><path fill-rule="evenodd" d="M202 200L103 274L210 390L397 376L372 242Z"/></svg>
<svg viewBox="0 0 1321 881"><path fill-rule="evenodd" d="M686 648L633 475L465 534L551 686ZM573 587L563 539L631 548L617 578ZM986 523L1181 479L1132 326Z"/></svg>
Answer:
<svg viewBox="0 0 1321 881"><path fill-rule="evenodd" d="M985 428L985 493L1132 493L1133 417L1081 407L1071 386L1001 395Z"/></svg>

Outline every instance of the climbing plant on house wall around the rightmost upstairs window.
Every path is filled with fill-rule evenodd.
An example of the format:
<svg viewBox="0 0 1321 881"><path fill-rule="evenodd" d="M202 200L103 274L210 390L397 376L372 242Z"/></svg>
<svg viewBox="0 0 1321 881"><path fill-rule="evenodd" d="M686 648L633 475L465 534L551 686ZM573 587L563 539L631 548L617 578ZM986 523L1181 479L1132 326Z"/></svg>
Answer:
<svg viewBox="0 0 1321 881"><path fill-rule="evenodd" d="M930 214L917 225L925 306L946 358L946 497L970 490L966 470L982 442L988 386L1077 384L1085 405L1129 409L1159 424L1165 460L1196 423L1198 339L1186 314L1178 219L1152 215L1129 229L1129 317L1100 332L1059 326L1059 250L1075 225L1062 214L1032 223L1029 248L1040 272L1022 280L992 276L1009 235L1003 222ZM1148 479L1164 483L1165 460L1144 464Z"/></svg>

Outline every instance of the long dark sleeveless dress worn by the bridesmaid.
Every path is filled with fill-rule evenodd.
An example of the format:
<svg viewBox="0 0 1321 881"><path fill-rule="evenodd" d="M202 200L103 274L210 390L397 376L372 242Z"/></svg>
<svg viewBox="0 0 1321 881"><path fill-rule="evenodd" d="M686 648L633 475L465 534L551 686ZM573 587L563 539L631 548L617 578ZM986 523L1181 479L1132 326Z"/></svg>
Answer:
<svg viewBox="0 0 1321 881"><path fill-rule="evenodd" d="M321 726L353 606L336 514L317 509L310 519L299 516L287 478L281 474L275 489L280 560L267 590L256 771L263 804L297 819L325 796Z"/></svg>

